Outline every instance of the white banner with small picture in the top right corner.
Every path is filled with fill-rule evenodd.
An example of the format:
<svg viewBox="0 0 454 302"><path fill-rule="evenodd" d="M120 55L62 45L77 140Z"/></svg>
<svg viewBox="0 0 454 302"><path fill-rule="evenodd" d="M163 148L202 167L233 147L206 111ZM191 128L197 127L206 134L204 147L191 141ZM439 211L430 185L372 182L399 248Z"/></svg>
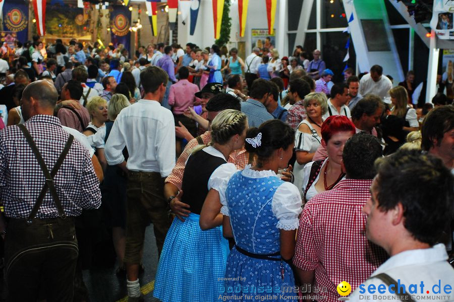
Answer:
<svg viewBox="0 0 454 302"><path fill-rule="evenodd" d="M435 0L433 2L430 27L439 39L454 39L454 2Z"/></svg>

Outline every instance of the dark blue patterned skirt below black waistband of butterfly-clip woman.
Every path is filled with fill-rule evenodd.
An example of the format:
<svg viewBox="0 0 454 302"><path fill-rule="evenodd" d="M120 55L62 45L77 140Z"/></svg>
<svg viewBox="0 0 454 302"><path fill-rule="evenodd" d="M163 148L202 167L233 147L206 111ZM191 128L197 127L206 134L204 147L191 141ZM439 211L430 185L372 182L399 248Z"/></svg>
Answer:
<svg viewBox="0 0 454 302"><path fill-rule="evenodd" d="M295 278L288 263L252 258L238 252L236 247L227 260L222 295L224 301L230 302L298 301Z"/></svg>

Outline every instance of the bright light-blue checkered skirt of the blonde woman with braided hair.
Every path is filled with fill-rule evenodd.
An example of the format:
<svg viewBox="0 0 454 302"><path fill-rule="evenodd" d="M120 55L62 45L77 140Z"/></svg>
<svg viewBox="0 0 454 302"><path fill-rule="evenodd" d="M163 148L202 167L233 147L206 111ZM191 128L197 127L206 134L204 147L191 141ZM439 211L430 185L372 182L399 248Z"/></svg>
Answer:
<svg viewBox="0 0 454 302"><path fill-rule="evenodd" d="M175 218L165 237L153 296L162 302L217 301L223 285L229 242L222 228L202 231L200 215Z"/></svg>

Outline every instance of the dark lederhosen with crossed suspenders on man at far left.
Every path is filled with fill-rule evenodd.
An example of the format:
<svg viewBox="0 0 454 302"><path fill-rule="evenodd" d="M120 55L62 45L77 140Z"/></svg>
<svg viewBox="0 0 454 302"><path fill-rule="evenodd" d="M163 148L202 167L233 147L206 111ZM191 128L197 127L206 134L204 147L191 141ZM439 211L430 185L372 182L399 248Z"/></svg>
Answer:
<svg viewBox="0 0 454 302"><path fill-rule="evenodd" d="M42 253L52 252L54 250L67 251L65 254L74 257L74 265L78 255L78 245L75 237L74 219L67 217L60 201L58 192L55 189L53 178L59 171L63 161L65 160L74 136L70 135L63 152L49 172L46 164L33 141L33 137L23 124L18 127L23 132L28 144L30 145L36 160L45 176L45 183L35 201L35 204L27 218L10 218L5 246L5 276L8 280L11 272L17 274L18 271L24 271L28 267L22 264L25 257L35 257L39 259ZM38 210L44 200L44 197L49 190L59 217L55 218L35 218ZM30 258L25 258L30 259ZM59 259L55 259L58 261ZM38 261L38 260L37 260ZM21 266L22 265L22 266ZM37 264L38 265L38 264ZM70 272L60 272L68 274ZM16 276L16 275L15 275ZM17 277L17 276L16 276ZM26 280L24 280L26 282Z"/></svg>

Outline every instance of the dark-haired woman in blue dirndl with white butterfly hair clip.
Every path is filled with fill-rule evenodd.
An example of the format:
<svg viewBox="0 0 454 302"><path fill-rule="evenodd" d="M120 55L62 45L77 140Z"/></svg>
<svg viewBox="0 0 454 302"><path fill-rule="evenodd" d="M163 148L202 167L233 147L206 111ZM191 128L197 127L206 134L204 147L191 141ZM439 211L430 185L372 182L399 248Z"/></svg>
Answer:
<svg viewBox="0 0 454 302"><path fill-rule="evenodd" d="M224 237L235 239L225 269L224 301L263 301L269 293L247 290L295 286L289 261L295 252L301 195L295 185L277 177L292 157L295 131L273 119L249 129L246 137L246 150L254 154L256 165L225 177L207 196L200 218L202 225L205 211L213 215L220 210ZM240 292L234 297L227 288ZM273 301L297 300L287 298Z"/></svg>

